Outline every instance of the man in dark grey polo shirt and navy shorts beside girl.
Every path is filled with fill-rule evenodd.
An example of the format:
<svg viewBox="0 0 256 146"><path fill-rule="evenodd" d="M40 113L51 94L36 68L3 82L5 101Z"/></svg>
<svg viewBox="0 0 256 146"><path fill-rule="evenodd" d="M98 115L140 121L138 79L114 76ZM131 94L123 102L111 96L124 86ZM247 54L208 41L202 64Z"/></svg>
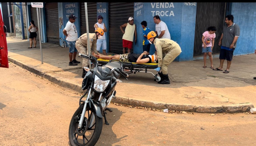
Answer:
<svg viewBox="0 0 256 146"><path fill-rule="evenodd" d="M219 53L220 64L218 68L213 69L215 71L223 71L223 63L226 59L227 69L223 73L229 73L233 52L240 35L240 28L233 22L233 19L233 15L227 15L225 18L226 25L223 28L221 39L219 39L219 46L222 45Z"/></svg>

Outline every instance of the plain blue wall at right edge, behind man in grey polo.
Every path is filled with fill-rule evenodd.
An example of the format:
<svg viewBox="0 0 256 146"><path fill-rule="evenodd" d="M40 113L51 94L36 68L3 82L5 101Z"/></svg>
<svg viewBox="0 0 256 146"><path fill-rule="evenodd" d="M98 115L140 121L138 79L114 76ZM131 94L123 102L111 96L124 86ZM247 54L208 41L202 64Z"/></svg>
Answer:
<svg viewBox="0 0 256 146"><path fill-rule="evenodd" d="M234 55L252 54L256 44L256 3L232 3L231 15L240 27L240 36Z"/></svg>

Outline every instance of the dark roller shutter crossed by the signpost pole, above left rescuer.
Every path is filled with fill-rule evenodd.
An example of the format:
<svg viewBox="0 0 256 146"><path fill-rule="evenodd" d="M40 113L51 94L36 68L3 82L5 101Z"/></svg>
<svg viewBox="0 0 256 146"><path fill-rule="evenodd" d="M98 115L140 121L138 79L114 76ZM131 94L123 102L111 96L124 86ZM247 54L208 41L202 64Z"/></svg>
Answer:
<svg viewBox="0 0 256 146"><path fill-rule="evenodd" d="M87 2L88 28L89 33L94 33L94 24L97 23L97 3ZM86 20L84 2L80 2L80 34L86 33Z"/></svg>

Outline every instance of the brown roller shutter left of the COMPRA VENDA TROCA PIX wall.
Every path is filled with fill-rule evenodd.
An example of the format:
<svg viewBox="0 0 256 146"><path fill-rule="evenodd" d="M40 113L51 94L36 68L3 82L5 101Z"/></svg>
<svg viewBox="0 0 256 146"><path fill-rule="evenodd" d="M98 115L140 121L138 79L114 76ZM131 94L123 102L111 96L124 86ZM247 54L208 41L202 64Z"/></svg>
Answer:
<svg viewBox="0 0 256 146"><path fill-rule="evenodd" d="M45 4L45 18L47 43L59 44L59 16L57 2L47 2Z"/></svg>

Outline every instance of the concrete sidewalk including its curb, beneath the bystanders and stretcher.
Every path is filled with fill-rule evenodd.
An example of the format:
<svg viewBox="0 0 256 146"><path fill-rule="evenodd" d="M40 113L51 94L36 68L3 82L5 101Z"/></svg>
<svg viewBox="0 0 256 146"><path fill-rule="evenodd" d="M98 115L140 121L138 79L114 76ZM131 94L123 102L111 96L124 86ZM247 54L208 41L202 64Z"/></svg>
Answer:
<svg viewBox="0 0 256 146"><path fill-rule="evenodd" d="M83 92L82 63L69 66L68 48L39 43L30 48L29 41L7 37L8 58L24 69L47 78L62 87ZM239 49L239 48L238 48ZM242 49L242 48L241 48ZM218 56L218 55L215 55ZM82 58L76 57L82 62ZM213 59L214 67L219 59ZM234 56L228 74L203 68L203 60L172 62L168 67L171 84L161 85L151 73L129 74L128 80L116 86L113 102L134 106L200 113L233 113L250 111L256 104L256 55ZM224 62L224 70L227 62ZM156 72L153 71L155 74ZM54 98L54 97L53 97Z"/></svg>

